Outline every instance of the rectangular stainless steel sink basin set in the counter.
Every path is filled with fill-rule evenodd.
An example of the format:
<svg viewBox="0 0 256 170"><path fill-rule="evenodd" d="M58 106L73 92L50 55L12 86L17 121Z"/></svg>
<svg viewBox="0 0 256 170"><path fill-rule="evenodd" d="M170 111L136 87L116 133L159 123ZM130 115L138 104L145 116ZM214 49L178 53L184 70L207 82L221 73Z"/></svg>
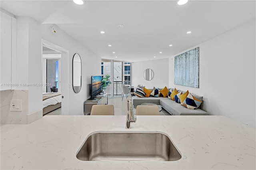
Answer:
<svg viewBox="0 0 256 170"><path fill-rule="evenodd" d="M181 155L162 133L95 133L76 157L89 161L175 161Z"/></svg>

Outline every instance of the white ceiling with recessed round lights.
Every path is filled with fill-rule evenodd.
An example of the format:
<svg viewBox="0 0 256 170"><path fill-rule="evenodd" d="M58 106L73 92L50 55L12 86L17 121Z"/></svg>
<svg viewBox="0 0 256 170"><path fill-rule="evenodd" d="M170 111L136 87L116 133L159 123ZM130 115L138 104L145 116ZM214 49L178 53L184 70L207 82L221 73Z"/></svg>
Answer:
<svg viewBox="0 0 256 170"><path fill-rule="evenodd" d="M189 0L182 6L176 0L1 0L0 6L56 24L101 58L124 61L168 58L256 17L254 0Z"/></svg>

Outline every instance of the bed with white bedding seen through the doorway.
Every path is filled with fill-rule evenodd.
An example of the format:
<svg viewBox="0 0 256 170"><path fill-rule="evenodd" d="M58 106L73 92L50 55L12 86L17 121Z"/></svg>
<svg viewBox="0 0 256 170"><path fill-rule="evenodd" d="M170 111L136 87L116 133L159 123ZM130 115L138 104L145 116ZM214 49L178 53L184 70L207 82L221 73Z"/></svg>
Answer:
<svg viewBox="0 0 256 170"><path fill-rule="evenodd" d="M43 115L61 107L61 93L43 93Z"/></svg>

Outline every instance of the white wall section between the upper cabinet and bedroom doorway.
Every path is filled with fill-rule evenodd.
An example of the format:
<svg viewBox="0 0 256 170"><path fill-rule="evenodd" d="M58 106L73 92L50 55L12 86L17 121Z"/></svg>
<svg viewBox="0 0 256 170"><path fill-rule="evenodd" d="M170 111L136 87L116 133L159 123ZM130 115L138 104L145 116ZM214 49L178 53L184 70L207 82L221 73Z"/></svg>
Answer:
<svg viewBox="0 0 256 170"><path fill-rule="evenodd" d="M16 19L16 83L42 83L41 24L30 17ZM28 89L28 115L42 112L42 87L19 85L17 89Z"/></svg>

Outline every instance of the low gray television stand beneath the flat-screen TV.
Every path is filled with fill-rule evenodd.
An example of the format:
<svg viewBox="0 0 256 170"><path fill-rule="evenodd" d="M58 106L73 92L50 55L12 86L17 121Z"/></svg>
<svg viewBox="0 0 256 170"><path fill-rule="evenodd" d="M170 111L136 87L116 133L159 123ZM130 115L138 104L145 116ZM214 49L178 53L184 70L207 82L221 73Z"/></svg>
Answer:
<svg viewBox="0 0 256 170"><path fill-rule="evenodd" d="M108 94L96 96L94 99L88 99L84 102L84 115L90 115L93 105L107 105Z"/></svg>

